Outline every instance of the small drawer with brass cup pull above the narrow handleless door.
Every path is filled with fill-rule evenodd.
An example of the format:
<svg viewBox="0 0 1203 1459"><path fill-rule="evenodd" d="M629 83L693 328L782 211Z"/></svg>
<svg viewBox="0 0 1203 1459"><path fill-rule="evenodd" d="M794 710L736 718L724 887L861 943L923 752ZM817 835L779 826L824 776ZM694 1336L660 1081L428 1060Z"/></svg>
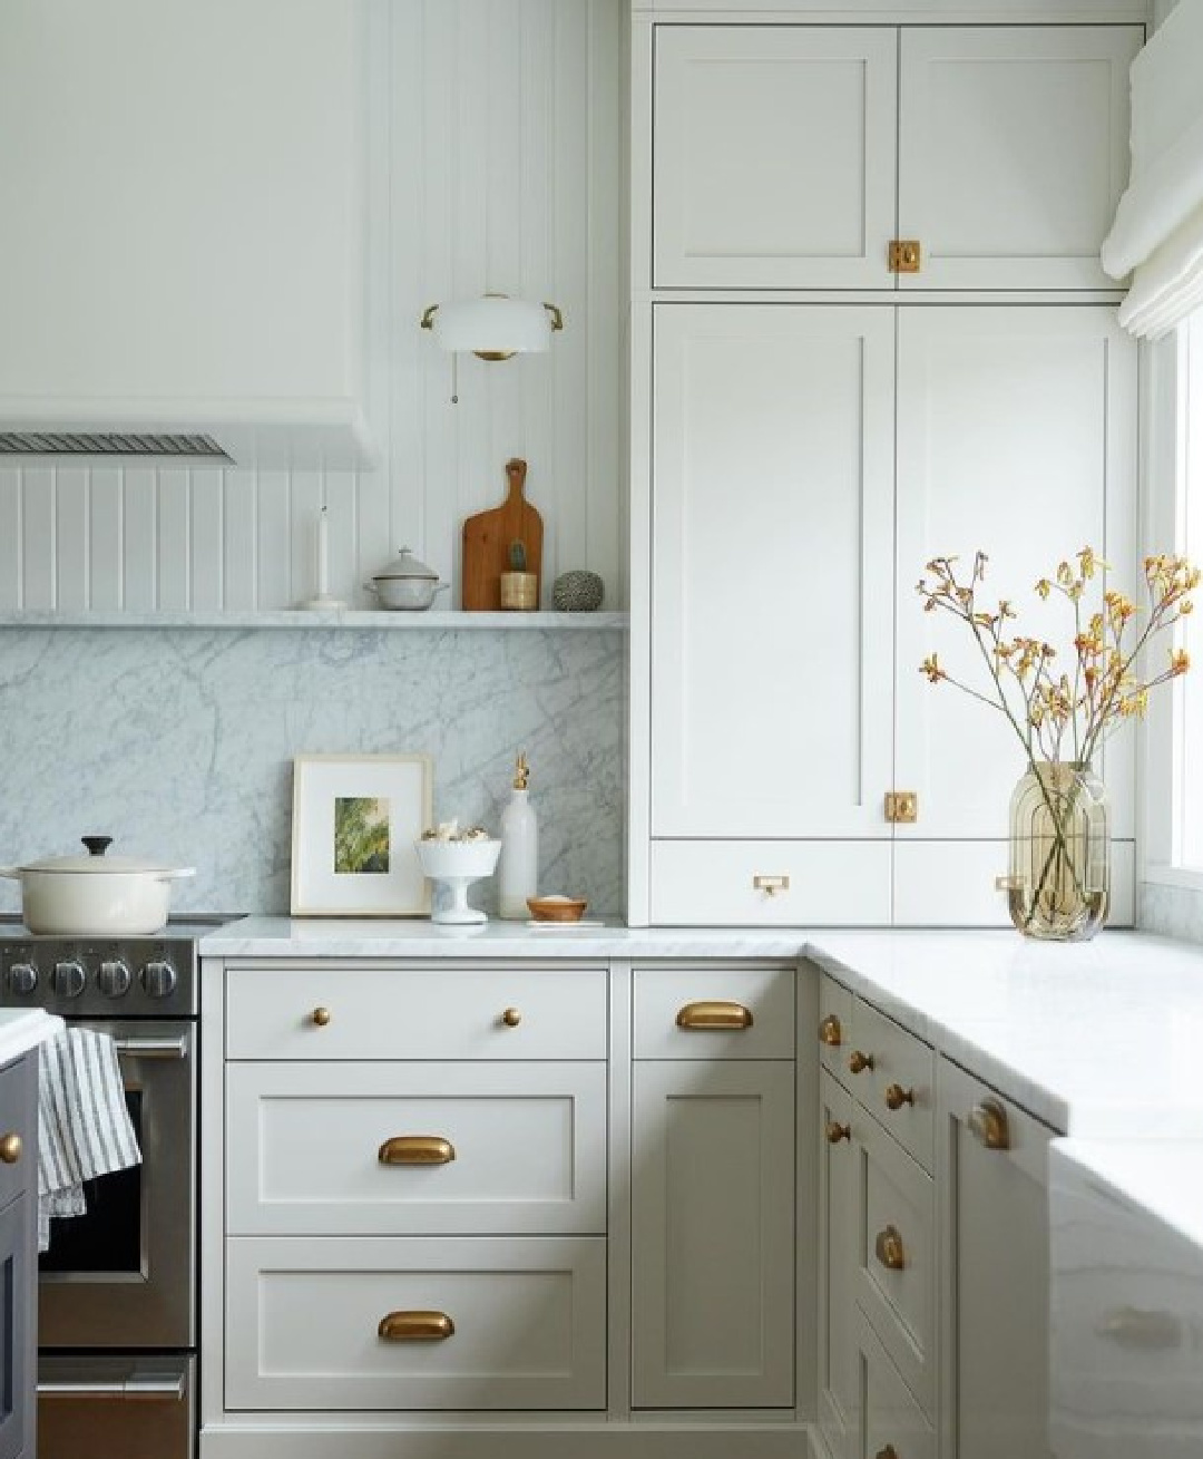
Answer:
<svg viewBox="0 0 1203 1459"><path fill-rule="evenodd" d="M639 967L634 1056L792 1059L796 986L795 967Z"/></svg>

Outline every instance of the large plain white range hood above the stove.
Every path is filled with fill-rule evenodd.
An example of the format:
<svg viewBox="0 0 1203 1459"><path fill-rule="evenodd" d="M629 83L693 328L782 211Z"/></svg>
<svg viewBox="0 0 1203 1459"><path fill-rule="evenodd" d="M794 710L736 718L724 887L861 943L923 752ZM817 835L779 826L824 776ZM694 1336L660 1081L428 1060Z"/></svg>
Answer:
<svg viewBox="0 0 1203 1459"><path fill-rule="evenodd" d="M363 25L4 0L0 463L372 464Z"/></svg>

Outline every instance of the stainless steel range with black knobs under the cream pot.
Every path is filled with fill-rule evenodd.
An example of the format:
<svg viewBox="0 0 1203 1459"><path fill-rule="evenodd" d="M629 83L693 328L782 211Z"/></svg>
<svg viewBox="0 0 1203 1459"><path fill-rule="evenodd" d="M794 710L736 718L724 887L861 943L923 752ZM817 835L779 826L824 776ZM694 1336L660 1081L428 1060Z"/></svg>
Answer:
<svg viewBox="0 0 1203 1459"><path fill-rule="evenodd" d="M143 1163L85 1186L39 1259L38 1459L190 1459L197 1352L197 940L0 926L0 1005L117 1042Z"/></svg>

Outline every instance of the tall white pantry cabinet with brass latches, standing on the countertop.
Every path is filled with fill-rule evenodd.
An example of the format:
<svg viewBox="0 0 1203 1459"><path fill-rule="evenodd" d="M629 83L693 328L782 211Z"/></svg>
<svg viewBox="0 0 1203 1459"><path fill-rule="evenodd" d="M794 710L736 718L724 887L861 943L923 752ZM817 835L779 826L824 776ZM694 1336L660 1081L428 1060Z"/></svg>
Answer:
<svg viewBox="0 0 1203 1459"><path fill-rule="evenodd" d="M1132 585L1098 245L1143 28L808 10L636 13L628 919L1002 922L1022 754L924 681L976 665L914 589L981 549L1027 598L1088 543ZM1130 743L1104 775L1121 924Z"/></svg>

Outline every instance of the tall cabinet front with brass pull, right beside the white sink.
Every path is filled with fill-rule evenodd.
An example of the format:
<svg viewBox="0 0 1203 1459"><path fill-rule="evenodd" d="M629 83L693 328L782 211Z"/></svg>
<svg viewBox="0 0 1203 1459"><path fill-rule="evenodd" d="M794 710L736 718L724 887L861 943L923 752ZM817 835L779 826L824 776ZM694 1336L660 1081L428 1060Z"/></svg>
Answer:
<svg viewBox="0 0 1203 1459"><path fill-rule="evenodd" d="M941 1059L941 1447L1050 1459L1048 1141L1053 1131Z"/></svg>

